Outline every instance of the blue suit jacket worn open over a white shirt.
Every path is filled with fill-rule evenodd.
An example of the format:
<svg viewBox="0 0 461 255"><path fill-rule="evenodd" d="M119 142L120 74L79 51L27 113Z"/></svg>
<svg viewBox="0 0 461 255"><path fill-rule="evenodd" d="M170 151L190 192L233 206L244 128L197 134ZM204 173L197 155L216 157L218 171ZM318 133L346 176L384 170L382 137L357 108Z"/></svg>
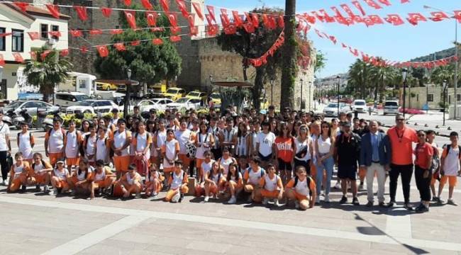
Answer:
<svg viewBox="0 0 461 255"><path fill-rule="evenodd" d="M389 137L382 132L378 132L378 152L379 164L386 165L391 163L391 144ZM372 165L372 135L367 132L362 136L362 146L360 147L360 166Z"/></svg>

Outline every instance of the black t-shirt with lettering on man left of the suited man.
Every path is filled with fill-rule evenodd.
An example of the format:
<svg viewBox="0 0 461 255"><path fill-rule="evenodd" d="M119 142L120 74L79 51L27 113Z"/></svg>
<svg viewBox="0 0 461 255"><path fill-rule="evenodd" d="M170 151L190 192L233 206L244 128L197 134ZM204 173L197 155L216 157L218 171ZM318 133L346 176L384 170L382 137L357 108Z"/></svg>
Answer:
<svg viewBox="0 0 461 255"><path fill-rule="evenodd" d="M336 137L335 146L338 149L338 165L357 165L360 157L360 137L351 133L346 137L343 133Z"/></svg>

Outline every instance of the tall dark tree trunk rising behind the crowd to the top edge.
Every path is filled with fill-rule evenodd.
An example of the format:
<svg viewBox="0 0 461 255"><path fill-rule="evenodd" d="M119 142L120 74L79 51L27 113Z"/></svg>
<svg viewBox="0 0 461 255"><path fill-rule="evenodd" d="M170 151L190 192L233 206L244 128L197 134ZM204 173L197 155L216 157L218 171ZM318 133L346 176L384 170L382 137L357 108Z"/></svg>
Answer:
<svg viewBox="0 0 461 255"><path fill-rule="evenodd" d="M282 84L280 108L294 106L294 84L296 81L296 34L295 34L296 0L285 0L284 59L282 62Z"/></svg>

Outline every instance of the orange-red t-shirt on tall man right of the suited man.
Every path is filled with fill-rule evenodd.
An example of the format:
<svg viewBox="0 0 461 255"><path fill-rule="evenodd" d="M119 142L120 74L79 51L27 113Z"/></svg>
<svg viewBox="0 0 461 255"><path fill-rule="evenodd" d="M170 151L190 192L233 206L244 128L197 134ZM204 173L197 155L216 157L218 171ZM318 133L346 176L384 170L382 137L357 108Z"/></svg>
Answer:
<svg viewBox="0 0 461 255"><path fill-rule="evenodd" d="M418 135L413 128L405 127L403 130L395 126L387 130L391 141L391 163L396 165L409 165L413 163L412 142L418 142Z"/></svg>

